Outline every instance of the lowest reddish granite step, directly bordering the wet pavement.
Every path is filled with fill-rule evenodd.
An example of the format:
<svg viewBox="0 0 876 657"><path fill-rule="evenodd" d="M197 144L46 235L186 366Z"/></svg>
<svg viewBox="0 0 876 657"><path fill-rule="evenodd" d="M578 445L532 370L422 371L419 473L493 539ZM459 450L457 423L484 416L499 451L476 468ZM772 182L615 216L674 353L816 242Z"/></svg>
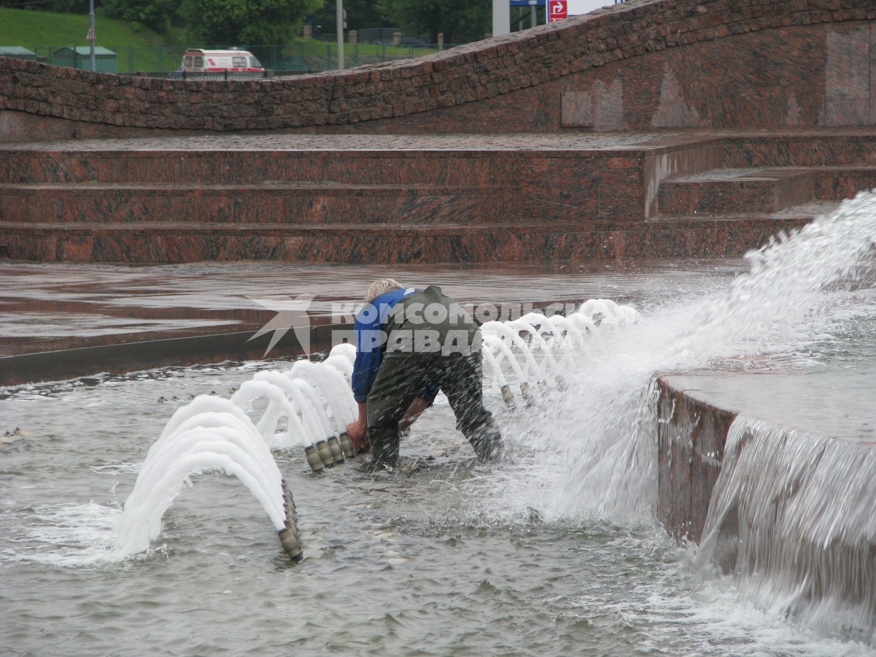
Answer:
<svg viewBox="0 0 876 657"><path fill-rule="evenodd" d="M447 264L738 257L808 219L441 224L0 222L0 257L45 262L282 260Z"/></svg>

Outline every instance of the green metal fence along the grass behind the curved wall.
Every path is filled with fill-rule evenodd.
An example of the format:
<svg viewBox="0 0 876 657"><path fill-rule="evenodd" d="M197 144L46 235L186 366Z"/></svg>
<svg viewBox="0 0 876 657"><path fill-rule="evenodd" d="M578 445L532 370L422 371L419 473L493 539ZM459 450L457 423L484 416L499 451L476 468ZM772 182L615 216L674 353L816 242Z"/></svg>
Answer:
<svg viewBox="0 0 876 657"><path fill-rule="evenodd" d="M447 50L456 44L344 44L343 57L346 67L357 67L363 64L378 64L385 61L406 60L422 54ZM105 46L115 53L115 60L106 60L103 70L113 73L143 73L170 74L180 68L183 53L187 48L182 46ZM223 49L227 46L199 46L208 49ZM337 44L309 39L289 46L245 46L262 66L275 74L301 74L316 71L336 70ZM89 60L70 60L67 46L34 46L37 60L58 66L74 66L88 69ZM73 63L71 63L73 61ZM222 75L222 74L220 74ZM206 78L205 78L206 79Z"/></svg>

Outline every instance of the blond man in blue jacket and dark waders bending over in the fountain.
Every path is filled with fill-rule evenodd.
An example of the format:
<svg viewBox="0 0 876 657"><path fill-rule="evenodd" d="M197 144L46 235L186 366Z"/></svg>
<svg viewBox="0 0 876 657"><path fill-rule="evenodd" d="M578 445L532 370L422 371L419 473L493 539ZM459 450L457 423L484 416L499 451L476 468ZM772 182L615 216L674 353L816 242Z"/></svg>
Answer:
<svg viewBox="0 0 876 657"><path fill-rule="evenodd" d="M374 463L395 463L399 432L441 390L477 456L499 456L502 436L484 408L480 330L440 287L419 290L375 280L357 314L355 336L352 383L359 419L347 431L357 450L370 443Z"/></svg>

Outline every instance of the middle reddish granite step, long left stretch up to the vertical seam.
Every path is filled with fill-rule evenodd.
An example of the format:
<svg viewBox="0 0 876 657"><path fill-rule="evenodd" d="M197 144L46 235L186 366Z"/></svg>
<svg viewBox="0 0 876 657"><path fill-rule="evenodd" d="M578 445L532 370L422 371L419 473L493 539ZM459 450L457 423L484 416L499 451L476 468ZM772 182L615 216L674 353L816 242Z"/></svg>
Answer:
<svg viewBox="0 0 876 657"><path fill-rule="evenodd" d="M507 186L0 184L0 221L25 223L468 223L519 218Z"/></svg>

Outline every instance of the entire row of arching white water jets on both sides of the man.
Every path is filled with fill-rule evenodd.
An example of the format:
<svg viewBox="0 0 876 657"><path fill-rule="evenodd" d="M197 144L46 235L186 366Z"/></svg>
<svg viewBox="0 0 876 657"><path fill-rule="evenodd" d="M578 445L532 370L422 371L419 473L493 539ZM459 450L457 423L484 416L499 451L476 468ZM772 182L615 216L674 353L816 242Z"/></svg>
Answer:
<svg viewBox="0 0 876 657"><path fill-rule="evenodd" d="M601 318L598 324L594 321L597 314ZM636 317L632 307L618 306L611 300L589 300L576 313L563 318L561 326L581 323L596 332L632 323ZM534 402L530 382L538 385L540 394L548 391L548 382L559 387L562 378L557 371L557 357L569 357L564 347L579 342L567 340L567 331L558 328L558 321L530 313L519 320L490 321L482 327L484 358L491 364L492 381L508 406L514 406L514 398L503 366L516 375L527 406ZM580 330L573 330L575 336L583 336ZM536 353L541 364L536 361ZM223 470L237 477L258 498L286 554L300 560L292 492L271 449L304 447L314 472L355 458L345 429L357 413L349 382L351 357L355 357L355 348L337 345L321 363L300 360L286 371L259 371L230 399L204 395L173 413L146 454L134 490L124 504L118 554L131 555L148 548L150 540L160 533L162 516L188 477L206 470ZM258 423L253 424L247 413L254 411L257 399L267 399L268 403ZM278 432L284 417L286 432Z"/></svg>

